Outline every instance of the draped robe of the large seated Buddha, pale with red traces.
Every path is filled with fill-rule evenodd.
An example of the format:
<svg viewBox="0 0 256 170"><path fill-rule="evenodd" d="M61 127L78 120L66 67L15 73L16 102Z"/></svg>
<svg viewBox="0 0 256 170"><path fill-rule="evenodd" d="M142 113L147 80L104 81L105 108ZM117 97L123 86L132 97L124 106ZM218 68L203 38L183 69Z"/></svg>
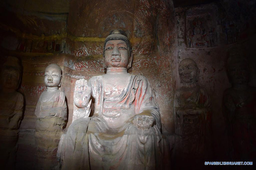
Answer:
<svg viewBox="0 0 256 170"><path fill-rule="evenodd" d="M147 78L129 75L114 97L104 92L104 75L92 77L88 85L91 117L76 119L63 136L58 150L62 169L159 169L160 114ZM143 130L133 122L145 112L156 123Z"/></svg>

